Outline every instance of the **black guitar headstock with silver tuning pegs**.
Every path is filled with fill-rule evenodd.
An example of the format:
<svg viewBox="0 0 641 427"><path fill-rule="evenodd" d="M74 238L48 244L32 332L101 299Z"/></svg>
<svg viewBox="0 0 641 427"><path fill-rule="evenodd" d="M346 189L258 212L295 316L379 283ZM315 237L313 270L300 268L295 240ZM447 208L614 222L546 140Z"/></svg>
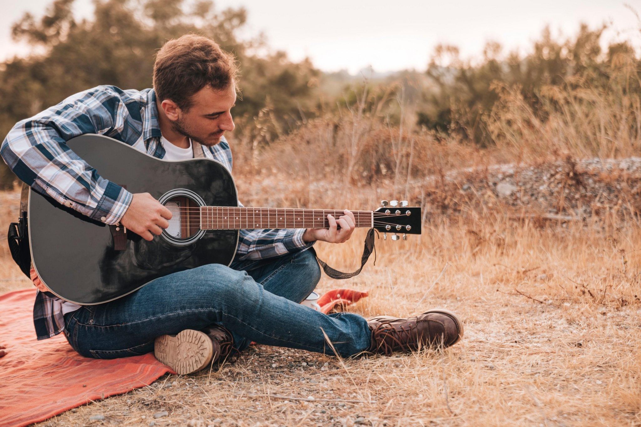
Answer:
<svg viewBox="0 0 641 427"><path fill-rule="evenodd" d="M387 240L387 233L392 234L392 240L398 240L401 237L397 233L403 234L403 240L407 234L420 234L420 207L408 207L407 200L382 200L381 205L374 211L374 229L383 233L383 239Z"/></svg>

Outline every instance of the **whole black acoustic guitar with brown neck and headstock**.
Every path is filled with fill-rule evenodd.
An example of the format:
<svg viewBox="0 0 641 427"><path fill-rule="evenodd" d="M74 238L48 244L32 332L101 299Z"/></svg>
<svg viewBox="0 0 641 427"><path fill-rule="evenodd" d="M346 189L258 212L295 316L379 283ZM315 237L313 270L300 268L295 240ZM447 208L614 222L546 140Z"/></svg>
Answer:
<svg viewBox="0 0 641 427"><path fill-rule="evenodd" d="M92 305L121 298L152 280L203 266L229 265L240 229L329 228L342 211L238 207L236 184L219 161L165 161L106 136L67 141L102 177L131 193L150 193L172 211L169 227L146 241L121 224L92 220L29 190L28 227L33 267L53 294ZM49 194L47 190L47 193ZM376 211L353 211L356 227L420 234L420 207L383 201ZM104 221L104 220L103 220Z"/></svg>

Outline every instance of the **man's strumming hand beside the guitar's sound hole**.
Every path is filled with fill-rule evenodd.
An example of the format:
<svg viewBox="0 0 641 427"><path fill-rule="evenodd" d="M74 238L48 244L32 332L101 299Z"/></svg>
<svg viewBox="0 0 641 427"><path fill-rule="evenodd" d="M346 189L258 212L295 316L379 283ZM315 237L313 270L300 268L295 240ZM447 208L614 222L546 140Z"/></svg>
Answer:
<svg viewBox="0 0 641 427"><path fill-rule="evenodd" d="M121 224L139 234L145 240L159 236L162 229L169 227L171 211L151 197L149 193L136 193L122 216Z"/></svg>

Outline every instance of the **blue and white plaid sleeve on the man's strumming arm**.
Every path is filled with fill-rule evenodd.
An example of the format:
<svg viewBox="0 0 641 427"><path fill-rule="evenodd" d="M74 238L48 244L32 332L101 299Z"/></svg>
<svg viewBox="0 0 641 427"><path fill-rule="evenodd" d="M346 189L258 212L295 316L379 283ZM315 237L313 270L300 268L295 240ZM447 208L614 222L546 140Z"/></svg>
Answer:
<svg viewBox="0 0 641 427"><path fill-rule="evenodd" d="M76 93L34 117L15 124L0 146L0 156L19 179L90 218L119 222L131 193L98 175L66 144L76 136L108 134L125 109L118 93L98 86Z"/></svg>

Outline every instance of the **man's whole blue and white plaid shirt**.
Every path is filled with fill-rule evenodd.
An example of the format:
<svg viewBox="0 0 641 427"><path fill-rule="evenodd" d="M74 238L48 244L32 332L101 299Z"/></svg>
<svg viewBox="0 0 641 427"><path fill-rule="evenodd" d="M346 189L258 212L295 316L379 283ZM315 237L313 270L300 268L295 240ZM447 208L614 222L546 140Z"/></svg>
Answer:
<svg viewBox="0 0 641 427"><path fill-rule="evenodd" d="M97 86L71 95L34 117L18 122L0 146L0 156L34 191L53 197L94 220L119 222L131 193L110 182L69 150L66 141L82 134L101 134L162 159L156 95L153 89L121 90ZM231 172L231 150L224 138L201 146L204 157L220 161ZM303 250L304 229L240 230L238 259L265 259ZM38 339L64 330L62 300L38 291L33 323Z"/></svg>

